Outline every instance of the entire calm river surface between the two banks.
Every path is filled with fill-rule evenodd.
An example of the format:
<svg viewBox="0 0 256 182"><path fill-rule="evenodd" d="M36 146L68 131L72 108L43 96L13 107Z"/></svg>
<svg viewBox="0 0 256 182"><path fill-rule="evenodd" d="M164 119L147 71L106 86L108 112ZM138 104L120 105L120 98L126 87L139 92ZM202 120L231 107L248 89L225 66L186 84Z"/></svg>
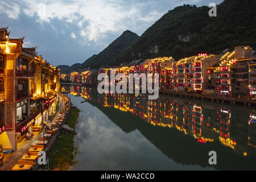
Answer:
<svg viewBox="0 0 256 182"><path fill-rule="evenodd" d="M256 169L255 107L65 89L81 110L72 170Z"/></svg>

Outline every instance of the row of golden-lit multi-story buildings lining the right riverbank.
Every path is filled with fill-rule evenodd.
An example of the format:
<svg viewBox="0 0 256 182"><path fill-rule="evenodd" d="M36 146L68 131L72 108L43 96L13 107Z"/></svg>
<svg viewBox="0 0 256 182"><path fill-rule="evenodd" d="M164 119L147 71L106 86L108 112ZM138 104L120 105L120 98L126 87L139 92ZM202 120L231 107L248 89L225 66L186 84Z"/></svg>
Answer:
<svg viewBox="0 0 256 182"><path fill-rule="evenodd" d="M152 76L155 81L155 73L159 74L159 88L173 89L177 92L204 92L217 96L235 96L248 94L256 95L256 72L255 56L253 50L247 46L235 47L234 51L226 52L221 57L219 55L207 55L207 53L197 56L187 57L175 61L172 57L159 57L148 59L143 63L115 68L115 75L124 73L129 78L129 73L145 73ZM102 68L94 73L92 81L92 71L71 73L71 81L89 85L97 84L97 75L106 73L109 76L112 68ZM81 79L80 79L81 78ZM87 80L91 81L87 81ZM255 81L254 81L255 80ZM117 84L115 80L113 84ZM145 83L146 84L146 83ZM142 86L142 80L140 79Z"/></svg>

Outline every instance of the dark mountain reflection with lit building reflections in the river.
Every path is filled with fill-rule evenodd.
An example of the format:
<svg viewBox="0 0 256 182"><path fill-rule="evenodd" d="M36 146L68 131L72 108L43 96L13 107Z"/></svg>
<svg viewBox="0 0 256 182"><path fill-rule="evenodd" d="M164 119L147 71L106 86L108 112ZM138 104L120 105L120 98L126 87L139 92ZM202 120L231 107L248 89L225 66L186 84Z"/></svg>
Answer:
<svg viewBox="0 0 256 182"><path fill-rule="evenodd" d="M214 150L216 169L256 169L254 108L164 96L150 101L144 95L98 94L81 86L70 91L89 100L125 133L140 131L176 163L209 167L208 152Z"/></svg>

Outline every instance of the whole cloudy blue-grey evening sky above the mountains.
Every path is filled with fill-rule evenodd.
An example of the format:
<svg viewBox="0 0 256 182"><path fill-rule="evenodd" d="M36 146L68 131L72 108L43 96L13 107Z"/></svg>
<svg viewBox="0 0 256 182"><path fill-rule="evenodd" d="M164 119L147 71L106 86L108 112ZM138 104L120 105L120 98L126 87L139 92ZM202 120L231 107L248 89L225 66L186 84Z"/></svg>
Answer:
<svg viewBox="0 0 256 182"><path fill-rule="evenodd" d="M0 27L53 65L82 63L123 31L141 36L168 10L222 0L1 0Z"/></svg>

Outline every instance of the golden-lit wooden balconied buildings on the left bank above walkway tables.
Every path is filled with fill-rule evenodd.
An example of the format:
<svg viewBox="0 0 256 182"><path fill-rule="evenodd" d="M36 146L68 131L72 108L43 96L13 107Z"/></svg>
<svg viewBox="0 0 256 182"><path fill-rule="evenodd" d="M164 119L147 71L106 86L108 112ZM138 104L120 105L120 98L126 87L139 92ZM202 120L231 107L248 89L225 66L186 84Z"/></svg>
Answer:
<svg viewBox="0 0 256 182"><path fill-rule="evenodd" d="M32 126L51 117L60 86L60 70L36 48L23 48L23 40L0 29L0 144L14 151Z"/></svg>

